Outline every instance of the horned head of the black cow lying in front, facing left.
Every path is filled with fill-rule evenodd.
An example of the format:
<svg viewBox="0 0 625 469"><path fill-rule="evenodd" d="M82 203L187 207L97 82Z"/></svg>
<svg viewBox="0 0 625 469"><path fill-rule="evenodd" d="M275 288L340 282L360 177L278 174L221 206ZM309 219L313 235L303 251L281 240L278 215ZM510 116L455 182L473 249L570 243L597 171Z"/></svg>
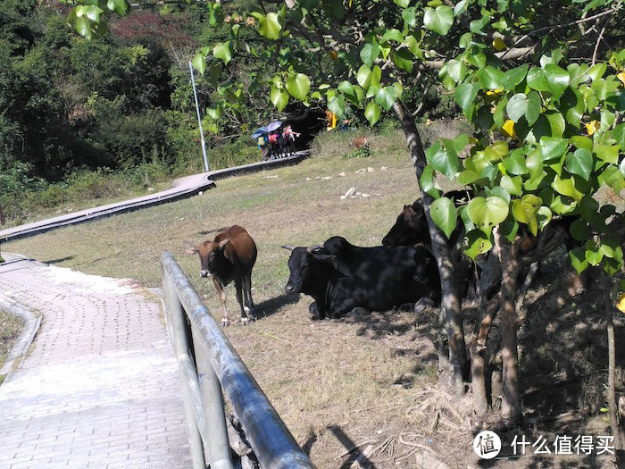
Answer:
<svg viewBox="0 0 625 469"><path fill-rule="evenodd" d="M334 255L329 255L321 246L312 247L291 247L283 246L291 251L288 258L288 277L285 291L288 295L297 295L312 286L314 272L321 268L321 265L332 264Z"/></svg>

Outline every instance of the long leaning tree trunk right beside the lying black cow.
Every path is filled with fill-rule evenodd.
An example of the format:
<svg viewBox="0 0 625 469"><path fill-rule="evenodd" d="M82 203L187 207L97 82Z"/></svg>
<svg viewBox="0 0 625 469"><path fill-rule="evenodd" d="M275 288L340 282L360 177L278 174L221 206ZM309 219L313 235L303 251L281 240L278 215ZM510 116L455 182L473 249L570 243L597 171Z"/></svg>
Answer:
<svg viewBox="0 0 625 469"><path fill-rule="evenodd" d="M454 263L452 262L451 250L446 243L445 234L438 227L429 215L429 205L433 199L426 192L421 190L421 174L427 162L425 151L421 143L421 137L410 113L404 109L400 101L396 101L393 109L397 118L402 123L402 129L408 143L408 149L412 157L412 165L417 176L417 186L421 191L423 210L428 220L429 235L432 239L432 254L437 259L438 272L442 289L442 307L445 311L445 329L449 341L449 349L452 365L454 366L455 390L459 397L464 394L464 382L469 378L469 367L467 362L467 352L464 345L464 328L462 325L462 311L458 286L454 281Z"/></svg>

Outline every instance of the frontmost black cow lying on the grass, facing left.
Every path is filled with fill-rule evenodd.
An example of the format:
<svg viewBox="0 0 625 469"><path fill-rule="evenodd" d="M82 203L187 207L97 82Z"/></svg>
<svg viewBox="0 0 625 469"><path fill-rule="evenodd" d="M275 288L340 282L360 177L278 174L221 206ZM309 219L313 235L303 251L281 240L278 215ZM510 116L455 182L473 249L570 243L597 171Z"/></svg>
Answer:
<svg viewBox="0 0 625 469"><path fill-rule="evenodd" d="M323 246L290 247L287 294L314 298L311 314L339 317L354 308L386 311L440 301L437 264L425 247L357 247L332 237Z"/></svg>

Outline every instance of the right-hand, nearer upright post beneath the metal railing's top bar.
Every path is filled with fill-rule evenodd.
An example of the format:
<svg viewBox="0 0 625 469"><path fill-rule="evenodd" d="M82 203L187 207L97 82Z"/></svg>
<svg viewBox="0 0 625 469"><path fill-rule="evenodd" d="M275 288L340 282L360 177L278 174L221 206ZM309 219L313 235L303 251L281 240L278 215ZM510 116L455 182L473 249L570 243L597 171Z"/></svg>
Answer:
<svg viewBox="0 0 625 469"><path fill-rule="evenodd" d="M206 348L203 345L202 336L191 327L194 350L196 351L197 374L200 381L200 393L206 419L206 432L208 440L206 454L211 469L232 469L230 457L230 445L228 440L228 428L226 427L226 413L223 409L223 396L221 384L217 375L206 356Z"/></svg>

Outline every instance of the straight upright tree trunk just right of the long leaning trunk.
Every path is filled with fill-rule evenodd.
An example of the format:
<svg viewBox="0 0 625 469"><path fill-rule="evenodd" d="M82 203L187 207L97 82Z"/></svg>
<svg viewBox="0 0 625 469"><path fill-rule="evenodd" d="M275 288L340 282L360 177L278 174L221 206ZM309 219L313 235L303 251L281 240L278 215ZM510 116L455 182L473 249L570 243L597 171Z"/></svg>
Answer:
<svg viewBox="0 0 625 469"><path fill-rule="evenodd" d="M506 422L516 422L521 416L521 394L519 392L519 353L516 339L516 296L517 274L519 272L517 239L512 243L494 229L495 246L502 265L501 280L501 359L504 400L501 414Z"/></svg>

